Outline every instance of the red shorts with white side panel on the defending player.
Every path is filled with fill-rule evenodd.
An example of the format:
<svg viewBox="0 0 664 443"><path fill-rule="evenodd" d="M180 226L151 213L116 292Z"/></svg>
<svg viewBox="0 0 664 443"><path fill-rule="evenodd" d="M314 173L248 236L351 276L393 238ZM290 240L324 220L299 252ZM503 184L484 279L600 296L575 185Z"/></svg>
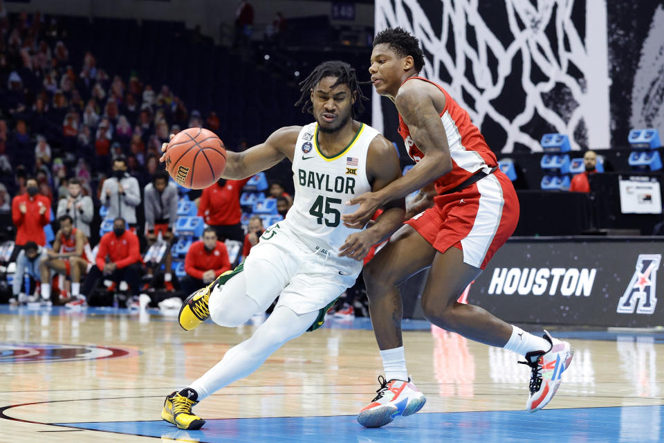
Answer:
<svg viewBox="0 0 664 443"><path fill-rule="evenodd" d="M434 197L434 206L406 221L437 251L463 251L463 262L484 269L517 228L519 199L500 170L468 188Z"/></svg>

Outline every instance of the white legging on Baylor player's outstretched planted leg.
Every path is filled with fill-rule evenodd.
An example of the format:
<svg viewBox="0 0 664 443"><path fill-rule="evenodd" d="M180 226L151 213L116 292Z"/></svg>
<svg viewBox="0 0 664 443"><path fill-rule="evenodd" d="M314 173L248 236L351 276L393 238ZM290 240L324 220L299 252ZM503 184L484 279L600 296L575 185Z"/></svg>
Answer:
<svg viewBox="0 0 664 443"><path fill-rule="evenodd" d="M304 334L317 316L318 311L300 315L288 307L277 307L254 335L228 350L219 363L189 387L196 391L201 401L216 390L248 376L284 343Z"/></svg>

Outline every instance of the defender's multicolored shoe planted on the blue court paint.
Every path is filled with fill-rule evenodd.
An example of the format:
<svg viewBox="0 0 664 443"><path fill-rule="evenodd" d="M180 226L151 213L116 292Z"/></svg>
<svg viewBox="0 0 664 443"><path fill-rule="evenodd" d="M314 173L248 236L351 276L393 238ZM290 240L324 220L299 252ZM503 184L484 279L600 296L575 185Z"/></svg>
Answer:
<svg viewBox="0 0 664 443"><path fill-rule="evenodd" d="M358 422L365 428L380 428L385 426L398 415L413 415L426 403L424 394L408 381L378 376L380 388L370 404L362 408L358 415Z"/></svg>

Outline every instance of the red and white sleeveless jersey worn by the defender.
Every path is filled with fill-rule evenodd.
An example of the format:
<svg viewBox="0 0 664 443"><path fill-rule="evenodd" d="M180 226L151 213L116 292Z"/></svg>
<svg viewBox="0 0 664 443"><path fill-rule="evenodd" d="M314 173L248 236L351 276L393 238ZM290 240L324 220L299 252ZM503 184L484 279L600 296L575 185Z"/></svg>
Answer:
<svg viewBox="0 0 664 443"><path fill-rule="evenodd" d="M445 125L448 145L450 145L452 170L436 179L434 182L436 192L442 194L459 186L475 172L479 170L489 172L490 168L498 165L495 154L489 149L477 126L470 121L468 112L460 107L439 84L423 77L410 77L404 80L404 83L413 78L434 84L445 94L445 109L443 109L440 116L443 125ZM416 163L423 159L424 154L415 145L407 125L401 118L401 114L399 114L399 134L403 137L410 158Z"/></svg>

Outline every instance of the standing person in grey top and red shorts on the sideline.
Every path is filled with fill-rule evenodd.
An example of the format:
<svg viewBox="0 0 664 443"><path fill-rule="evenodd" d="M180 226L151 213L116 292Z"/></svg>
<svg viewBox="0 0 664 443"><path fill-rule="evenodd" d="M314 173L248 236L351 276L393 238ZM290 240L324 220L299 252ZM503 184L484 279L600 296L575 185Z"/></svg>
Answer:
<svg viewBox="0 0 664 443"><path fill-rule="evenodd" d="M174 238L175 222L178 219L178 188L169 183L168 172L158 170L152 174L152 183L145 186L143 208L145 208L145 238L148 246L161 237L168 246L164 257L164 287L174 291L172 276L171 242ZM148 268L149 269L149 268ZM149 269L149 273L152 273Z"/></svg>

